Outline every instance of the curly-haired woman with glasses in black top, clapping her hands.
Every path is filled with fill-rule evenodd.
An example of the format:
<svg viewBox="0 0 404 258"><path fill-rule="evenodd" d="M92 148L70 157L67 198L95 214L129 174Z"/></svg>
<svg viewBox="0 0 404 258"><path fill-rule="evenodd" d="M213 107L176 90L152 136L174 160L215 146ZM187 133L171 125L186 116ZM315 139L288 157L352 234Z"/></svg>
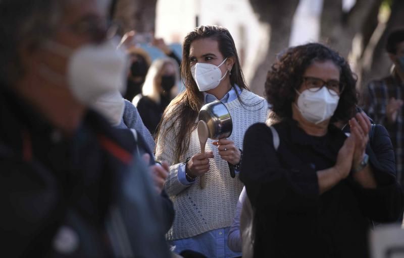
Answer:
<svg viewBox="0 0 404 258"><path fill-rule="evenodd" d="M399 216L402 190L367 145L355 84L344 58L318 43L288 49L269 71L266 96L280 122L248 129L240 172L255 257L368 257L368 219ZM349 137L336 121L348 121Z"/></svg>

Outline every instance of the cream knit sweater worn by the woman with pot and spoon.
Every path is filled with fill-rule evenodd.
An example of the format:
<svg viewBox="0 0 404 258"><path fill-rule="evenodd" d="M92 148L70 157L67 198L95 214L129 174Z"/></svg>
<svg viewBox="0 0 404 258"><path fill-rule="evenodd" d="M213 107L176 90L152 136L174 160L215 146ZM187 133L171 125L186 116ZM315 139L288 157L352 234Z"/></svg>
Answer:
<svg viewBox="0 0 404 258"><path fill-rule="evenodd" d="M265 122L268 113L267 101L252 92L243 90L240 94L243 106L238 99L226 103L232 121L233 132L228 138L235 146L242 149L244 133L247 128L257 122ZM169 121L172 122L172 121ZM197 122L197 121L195 121ZM164 126L164 125L163 125ZM168 135L166 143L174 143L176 134ZM183 185L178 181L178 167L174 163L174 146L161 146L157 142L156 159L166 160L170 166L170 174L166 180L165 189L174 203L175 219L167 233L168 240L195 236L213 229L231 225L240 196L242 183L238 178L230 176L227 161L220 158L218 148L208 139L206 152L213 151L215 156L210 161L210 170L206 173L206 187L199 187L199 177L191 185ZM188 150L180 160L186 160L200 153L197 130L191 133Z"/></svg>

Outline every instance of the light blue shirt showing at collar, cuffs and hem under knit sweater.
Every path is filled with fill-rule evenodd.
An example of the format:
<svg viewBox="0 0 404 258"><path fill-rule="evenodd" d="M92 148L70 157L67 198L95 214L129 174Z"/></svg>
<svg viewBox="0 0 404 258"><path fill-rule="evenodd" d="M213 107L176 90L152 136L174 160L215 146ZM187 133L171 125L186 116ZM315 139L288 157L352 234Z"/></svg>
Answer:
<svg viewBox="0 0 404 258"><path fill-rule="evenodd" d="M241 89L236 85L238 94L241 94ZM209 93L204 92L205 103L211 103L217 98ZM232 87L226 95L223 96L220 101L227 103L233 101L237 98L236 91ZM235 171L238 173L238 171ZM181 164L178 168L178 180L184 185L190 185L193 182L189 182L185 177L185 165ZM240 252L233 252L227 246L227 238L229 234L230 227L218 228L199 235L182 238L178 240L171 241L171 245L175 245L175 252L180 253L183 250L190 249L200 253L205 254L207 257L239 257ZM215 246L215 249L212 247Z"/></svg>

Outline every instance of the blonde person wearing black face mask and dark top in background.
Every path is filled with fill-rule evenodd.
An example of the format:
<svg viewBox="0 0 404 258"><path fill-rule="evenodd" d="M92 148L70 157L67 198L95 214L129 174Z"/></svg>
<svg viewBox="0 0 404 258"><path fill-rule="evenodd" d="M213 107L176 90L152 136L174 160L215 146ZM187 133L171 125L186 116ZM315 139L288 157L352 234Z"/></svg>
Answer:
<svg viewBox="0 0 404 258"><path fill-rule="evenodd" d="M179 68L172 58L159 58L151 63L142 87L142 94L133 99L144 125L155 135L164 110L177 96Z"/></svg>

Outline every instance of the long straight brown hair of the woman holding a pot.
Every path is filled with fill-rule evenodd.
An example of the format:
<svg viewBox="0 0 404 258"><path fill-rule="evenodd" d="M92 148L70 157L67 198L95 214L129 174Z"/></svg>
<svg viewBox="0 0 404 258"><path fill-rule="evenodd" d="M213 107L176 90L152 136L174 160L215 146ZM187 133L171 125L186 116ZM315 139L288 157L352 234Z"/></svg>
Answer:
<svg viewBox="0 0 404 258"><path fill-rule="evenodd" d="M219 43L219 51L224 58L234 57L234 65L230 71L230 84L233 88L235 88L235 85L238 85L241 89L248 90L244 75L241 71L234 40L226 28L219 26L199 26L189 32L183 42L181 61L181 77L185 85L185 90L166 108L163 118L160 121L157 134L157 141L160 141L159 144L173 144L175 163L180 161L181 155L188 149L191 132L196 127L196 117L204 103L204 95L198 90L192 78L189 60L189 48L192 41L202 38L217 40ZM237 97L239 97L238 93ZM172 130L177 134L177 137L173 143L166 142L166 136Z"/></svg>

